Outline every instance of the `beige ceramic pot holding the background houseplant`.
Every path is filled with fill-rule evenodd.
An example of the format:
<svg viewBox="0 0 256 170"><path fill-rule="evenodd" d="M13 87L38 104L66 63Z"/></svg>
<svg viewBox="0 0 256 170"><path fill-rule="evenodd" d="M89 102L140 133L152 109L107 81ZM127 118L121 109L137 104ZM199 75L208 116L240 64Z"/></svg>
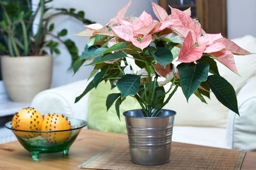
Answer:
<svg viewBox="0 0 256 170"><path fill-rule="evenodd" d="M42 90L51 87L52 57L1 57L6 91L13 101L31 102Z"/></svg>

